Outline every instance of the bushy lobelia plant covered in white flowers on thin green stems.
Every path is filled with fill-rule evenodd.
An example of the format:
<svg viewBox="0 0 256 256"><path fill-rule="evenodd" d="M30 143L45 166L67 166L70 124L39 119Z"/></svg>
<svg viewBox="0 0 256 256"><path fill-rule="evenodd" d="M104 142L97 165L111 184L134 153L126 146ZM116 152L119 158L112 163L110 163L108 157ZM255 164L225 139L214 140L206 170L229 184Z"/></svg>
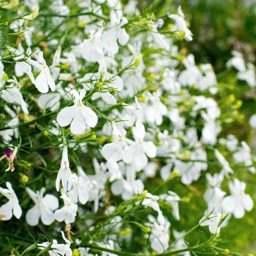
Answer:
<svg viewBox="0 0 256 256"><path fill-rule="evenodd" d="M2 254L241 256L221 229L253 209L255 157L230 128L242 102L179 49L193 39L181 7L157 17L154 2L12 0L0 11ZM256 86L240 52L230 70Z"/></svg>

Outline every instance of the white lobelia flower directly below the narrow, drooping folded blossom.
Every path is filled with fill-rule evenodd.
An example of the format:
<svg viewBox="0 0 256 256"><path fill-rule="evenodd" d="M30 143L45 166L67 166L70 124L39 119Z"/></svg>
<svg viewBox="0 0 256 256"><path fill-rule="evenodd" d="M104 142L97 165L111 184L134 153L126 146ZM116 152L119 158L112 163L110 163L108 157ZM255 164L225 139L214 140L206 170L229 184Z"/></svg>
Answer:
<svg viewBox="0 0 256 256"><path fill-rule="evenodd" d="M77 212L75 203L77 200L74 198L73 192L70 191L67 195L63 189L61 189L61 198L64 201L64 206L54 212L54 218L59 222L65 221L65 224L73 223Z"/></svg>

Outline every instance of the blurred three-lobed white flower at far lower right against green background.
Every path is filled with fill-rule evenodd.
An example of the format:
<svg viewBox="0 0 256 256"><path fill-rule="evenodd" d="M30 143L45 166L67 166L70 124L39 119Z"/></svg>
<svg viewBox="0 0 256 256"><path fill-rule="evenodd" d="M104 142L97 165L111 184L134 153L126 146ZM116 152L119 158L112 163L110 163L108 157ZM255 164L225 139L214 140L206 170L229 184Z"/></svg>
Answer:
<svg viewBox="0 0 256 256"><path fill-rule="evenodd" d="M228 183L231 195L223 199L224 212L233 213L235 218L242 218L244 210L253 209L253 200L250 195L245 194L246 184L237 178Z"/></svg>

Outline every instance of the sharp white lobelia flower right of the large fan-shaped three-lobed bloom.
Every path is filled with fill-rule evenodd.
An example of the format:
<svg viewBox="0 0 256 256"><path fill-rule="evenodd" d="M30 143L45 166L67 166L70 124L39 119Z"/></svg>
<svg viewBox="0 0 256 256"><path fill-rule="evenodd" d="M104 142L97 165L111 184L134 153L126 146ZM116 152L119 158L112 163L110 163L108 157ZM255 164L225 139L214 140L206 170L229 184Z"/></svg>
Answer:
<svg viewBox="0 0 256 256"><path fill-rule="evenodd" d="M106 160L113 160L115 162L122 159L123 147L125 146L125 130L119 131L116 127L115 122L111 122L111 126L113 129L113 142L107 143L102 148L102 156Z"/></svg>

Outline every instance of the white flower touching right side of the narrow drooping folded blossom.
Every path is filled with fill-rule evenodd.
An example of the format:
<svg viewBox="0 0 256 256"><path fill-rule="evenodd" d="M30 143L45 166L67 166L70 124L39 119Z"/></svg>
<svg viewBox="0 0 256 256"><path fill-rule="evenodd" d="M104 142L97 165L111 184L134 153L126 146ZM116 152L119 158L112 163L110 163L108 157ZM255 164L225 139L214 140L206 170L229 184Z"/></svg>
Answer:
<svg viewBox="0 0 256 256"><path fill-rule="evenodd" d="M72 174L72 186L71 192L73 192L73 198L79 201L81 204L85 204L89 199L88 186L84 177Z"/></svg>

